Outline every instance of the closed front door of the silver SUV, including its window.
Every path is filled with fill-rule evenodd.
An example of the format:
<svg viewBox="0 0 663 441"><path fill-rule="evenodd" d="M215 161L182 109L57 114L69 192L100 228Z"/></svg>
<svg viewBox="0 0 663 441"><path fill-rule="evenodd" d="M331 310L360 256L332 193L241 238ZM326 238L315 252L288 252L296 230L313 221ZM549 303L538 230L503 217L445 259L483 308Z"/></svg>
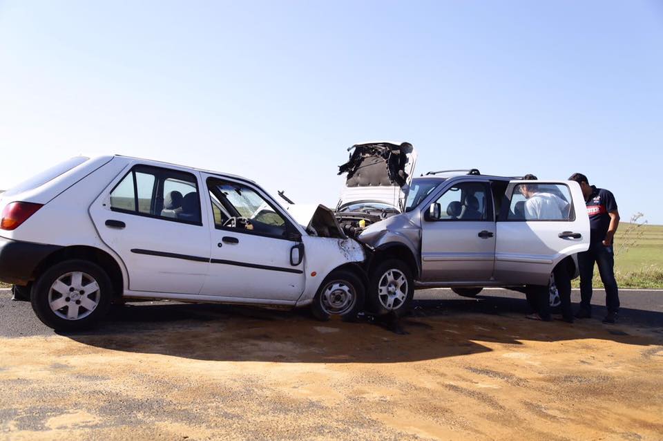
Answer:
<svg viewBox="0 0 663 441"><path fill-rule="evenodd" d="M454 182L433 204L439 218L422 216L422 281L490 280L496 230L489 182Z"/></svg>

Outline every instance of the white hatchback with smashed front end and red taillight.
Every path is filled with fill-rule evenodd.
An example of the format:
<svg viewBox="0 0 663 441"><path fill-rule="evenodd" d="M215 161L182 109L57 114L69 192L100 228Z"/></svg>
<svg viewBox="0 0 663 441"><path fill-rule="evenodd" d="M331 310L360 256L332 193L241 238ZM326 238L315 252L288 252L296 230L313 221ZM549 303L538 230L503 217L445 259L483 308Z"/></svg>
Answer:
<svg viewBox="0 0 663 441"><path fill-rule="evenodd" d="M0 280L55 329L114 301L363 308L363 245L318 206L300 225L255 182L125 156L79 156L0 195Z"/></svg>

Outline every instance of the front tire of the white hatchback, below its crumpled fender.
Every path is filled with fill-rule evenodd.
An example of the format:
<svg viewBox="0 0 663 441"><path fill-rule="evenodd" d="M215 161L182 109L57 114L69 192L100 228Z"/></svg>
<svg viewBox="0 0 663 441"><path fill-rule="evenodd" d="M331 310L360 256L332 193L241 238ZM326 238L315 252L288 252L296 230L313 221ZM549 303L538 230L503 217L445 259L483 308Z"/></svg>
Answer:
<svg viewBox="0 0 663 441"><path fill-rule="evenodd" d="M332 271L318 288L311 312L320 321L332 318L352 321L364 308L364 292L364 283L354 273Z"/></svg>

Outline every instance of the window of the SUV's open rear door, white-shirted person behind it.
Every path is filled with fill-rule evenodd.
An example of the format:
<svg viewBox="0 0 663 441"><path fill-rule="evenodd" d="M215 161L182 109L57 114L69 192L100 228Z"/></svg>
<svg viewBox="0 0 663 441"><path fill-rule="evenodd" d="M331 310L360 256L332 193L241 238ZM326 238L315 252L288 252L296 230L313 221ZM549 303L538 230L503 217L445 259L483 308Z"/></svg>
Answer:
<svg viewBox="0 0 663 441"><path fill-rule="evenodd" d="M571 194L564 184L516 185L507 220L575 220Z"/></svg>

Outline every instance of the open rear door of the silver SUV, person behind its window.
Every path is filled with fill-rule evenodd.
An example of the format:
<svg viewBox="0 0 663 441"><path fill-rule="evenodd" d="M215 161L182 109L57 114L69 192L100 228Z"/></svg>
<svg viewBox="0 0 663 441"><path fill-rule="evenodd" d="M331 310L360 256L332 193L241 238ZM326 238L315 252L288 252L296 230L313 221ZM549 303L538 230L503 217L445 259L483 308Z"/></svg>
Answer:
<svg viewBox="0 0 663 441"><path fill-rule="evenodd" d="M547 285L559 261L588 246L589 218L577 182L509 182L497 220L497 281Z"/></svg>

